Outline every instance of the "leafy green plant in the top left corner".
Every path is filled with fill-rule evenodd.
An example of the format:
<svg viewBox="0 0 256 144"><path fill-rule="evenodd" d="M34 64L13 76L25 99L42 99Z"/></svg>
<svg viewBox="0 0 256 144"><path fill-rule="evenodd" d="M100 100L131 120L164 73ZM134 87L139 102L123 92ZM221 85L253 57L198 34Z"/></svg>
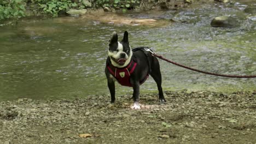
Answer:
<svg viewBox="0 0 256 144"><path fill-rule="evenodd" d="M0 20L25 16L25 5L22 0L0 1Z"/></svg>

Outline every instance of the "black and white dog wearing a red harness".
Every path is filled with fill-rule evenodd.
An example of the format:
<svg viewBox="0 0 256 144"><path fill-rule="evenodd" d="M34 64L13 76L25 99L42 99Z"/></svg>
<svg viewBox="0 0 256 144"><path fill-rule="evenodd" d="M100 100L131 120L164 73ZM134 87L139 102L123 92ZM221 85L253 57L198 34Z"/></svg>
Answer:
<svg viewBox="0 0 256 144"><path fill-rule="evenodd" d="M162 78L158 59L152 56L147 47L131 49L128 40L128 32L124 32L124 38L118 41L117 33L113 32L109 41L108 58L105 73L108 88L111 95L111 103L115 101L115 81L123 86L133 88L132 98L134 104L131 109L140 109L139 86L151 75L155 80L160 102L165 102L162 92Z"/></svg>

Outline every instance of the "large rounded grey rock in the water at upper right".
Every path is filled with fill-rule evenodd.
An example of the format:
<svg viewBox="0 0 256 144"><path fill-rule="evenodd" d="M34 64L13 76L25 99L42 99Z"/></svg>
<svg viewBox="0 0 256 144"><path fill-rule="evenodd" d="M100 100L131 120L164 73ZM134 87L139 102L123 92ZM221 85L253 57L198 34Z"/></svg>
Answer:
<svg viewBox="0 0 256 144"><path fill-rule="evenodd" d="M235 27L237 26L237 20L230 16L218 16L211 22L212 27Z"/></svg>

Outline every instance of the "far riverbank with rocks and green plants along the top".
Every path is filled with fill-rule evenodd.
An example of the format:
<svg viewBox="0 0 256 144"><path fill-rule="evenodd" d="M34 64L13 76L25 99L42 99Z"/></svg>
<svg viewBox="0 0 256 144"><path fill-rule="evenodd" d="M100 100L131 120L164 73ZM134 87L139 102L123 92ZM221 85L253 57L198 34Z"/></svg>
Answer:
<svg viewBox="0 0 256 144"><path fill-rule="evenodd" d="M161 1L39 1L21 0L0 2L0 21L16 19L20 17L59 17L65 15L84 15L87 11L104 10L113 13L133 13L148 10L179 10L190 7L190 5L201 5L204 3L221 3L217 0L161 0ZM1 23L0 23L1 24Z"/></svg>

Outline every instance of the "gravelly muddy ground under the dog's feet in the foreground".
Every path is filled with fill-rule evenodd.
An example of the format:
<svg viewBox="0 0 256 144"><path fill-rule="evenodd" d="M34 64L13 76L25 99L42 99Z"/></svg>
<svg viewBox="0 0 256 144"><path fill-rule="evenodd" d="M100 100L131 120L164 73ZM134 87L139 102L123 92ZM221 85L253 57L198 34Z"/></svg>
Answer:
<svg viewBox="0 0 256 144"><path fill-rule="evenodd" d="M256 143L256 92L0 102L0 143ZM81 135L85 134L85 135Z"/></svg>

